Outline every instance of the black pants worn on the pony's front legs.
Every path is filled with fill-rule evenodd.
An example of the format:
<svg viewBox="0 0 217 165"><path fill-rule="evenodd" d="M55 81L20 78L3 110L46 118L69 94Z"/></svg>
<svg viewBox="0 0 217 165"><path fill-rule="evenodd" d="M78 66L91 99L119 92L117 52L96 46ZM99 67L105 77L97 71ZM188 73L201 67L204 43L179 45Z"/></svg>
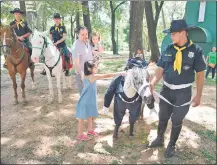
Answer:
<svg viewBox="0 0 217 165"><path fill-rule="evenodd" d="M126 109L129 110L129 122L134 124L139 117L141 110L141 99L138 99L135 103L125 103L118 96L114 99L114 120L115 124L120 126L125 115Z"/></svg>

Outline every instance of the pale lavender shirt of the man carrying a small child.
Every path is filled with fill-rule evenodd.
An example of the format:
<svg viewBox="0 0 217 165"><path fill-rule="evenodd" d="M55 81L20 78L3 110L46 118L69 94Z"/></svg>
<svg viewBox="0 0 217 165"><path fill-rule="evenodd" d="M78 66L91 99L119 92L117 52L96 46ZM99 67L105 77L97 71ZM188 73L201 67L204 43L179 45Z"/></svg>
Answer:
<svg viewBox="0 0 217 165"><path fill-rule="evenodd" d="M92 48L90 42L85 43L77 39L71 48L73 59L79 58L81 71L84 71L84 63L93 60Z"/></svg>

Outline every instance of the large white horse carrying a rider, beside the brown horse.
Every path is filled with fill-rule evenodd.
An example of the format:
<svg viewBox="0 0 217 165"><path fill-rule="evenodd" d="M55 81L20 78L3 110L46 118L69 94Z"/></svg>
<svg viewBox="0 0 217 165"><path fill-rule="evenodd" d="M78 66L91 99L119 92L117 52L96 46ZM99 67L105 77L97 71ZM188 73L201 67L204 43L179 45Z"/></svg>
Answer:
<svg viewBox="0 0 217 165"><path fill-rule="evenodd" d="M71 76L65 77L63 74L62 58L60 51L52 43L49 37L46 36L47 32L34 31L32 37L32 56L31 59L36 63L43 63L46 71L47 79L49 82L50 96L48 103L52 103L54 99L52 76L56 77L57 90L58 90L58 102L62 103L61 93L61 77L63 76L63 89L66 89L66 79L68 79L68 87L72 88Z"/></svg>

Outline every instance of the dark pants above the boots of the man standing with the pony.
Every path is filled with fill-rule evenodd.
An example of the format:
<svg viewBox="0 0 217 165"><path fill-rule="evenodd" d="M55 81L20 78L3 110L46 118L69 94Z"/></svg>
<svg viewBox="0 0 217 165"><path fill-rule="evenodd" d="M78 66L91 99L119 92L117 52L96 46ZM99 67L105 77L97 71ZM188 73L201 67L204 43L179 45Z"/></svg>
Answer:
<svg viewBox="0 0 217 165"><path fill-rule="evenodd" d="M168 87L163 86L161 95L164 96L172 104L179 106L191 100L192 91L191 87L179 90L171 90ZM182 121L188 113L189 107L190 105L174 107L160 99L159 121L167 123L171 118L173 126L182 125Z"/></svg>

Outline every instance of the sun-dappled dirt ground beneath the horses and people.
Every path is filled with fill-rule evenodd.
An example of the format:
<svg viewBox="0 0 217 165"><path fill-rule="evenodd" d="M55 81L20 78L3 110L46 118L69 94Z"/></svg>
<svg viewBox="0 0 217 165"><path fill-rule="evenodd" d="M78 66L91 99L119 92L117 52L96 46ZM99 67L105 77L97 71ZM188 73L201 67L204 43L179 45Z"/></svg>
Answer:
<svg viewBox="0 0 217 165"><path fill-rule="evenodd" d="M130 139L128 114L126 114L119 133L114 141L112 133L114 121L112 108L107 116L100 115L95 120L100 136L88 142L76 140L77 120L74 118L78 100L76 87L63 91L64 102L47 104L49 92L46 76L36 66L37 90L31 90L30 74L26 79L27 105L12 105L12 82L7 71L1 72L1 162L2 163L215 163L216 162L216 105L213 87L207 87L202 106L192 108L183 126L178 141L179 154L171 159L163 156L164 148L147 149L145 144L156 136L157 116L149 116L145 108L144 120L135 125L135 137ZM18 76L17 76L18 78ZM74 84L74 77L73 84ZM55 79L53 79L55 80ZM56 82L56 81L55 81ZM20 78L18 78L20 99ZM103 105L103 94L109 81L99 81L99 110ZM55 89L55 88L54 88ZM210 97L212 91L212 97ZM208 97L209 96L209 97ZM157 103L156 103L157 107ZM158 110L158 108L157 108ZM168 143L171 123L166 133Z"/></svg>

